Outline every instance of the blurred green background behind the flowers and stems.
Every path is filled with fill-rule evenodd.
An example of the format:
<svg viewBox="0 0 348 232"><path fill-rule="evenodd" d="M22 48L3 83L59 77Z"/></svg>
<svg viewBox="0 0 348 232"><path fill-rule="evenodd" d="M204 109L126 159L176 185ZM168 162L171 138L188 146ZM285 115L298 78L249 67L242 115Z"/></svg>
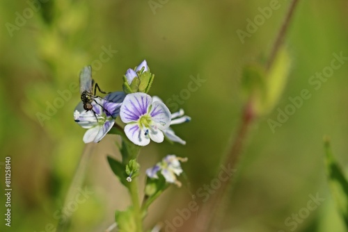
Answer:
<svg viewBox="0 0 348 232"><path fill-rule="evenodd" d="M246 19L260 15L258 8L269 6L269 0L1 1L1 215L6 156L11 157L13 191L12 224L8 228L1 219L0 231L54 231L59 222L86 147L85 130L72 117L79 92L70 89L78 83L81 68L94 65L102 89L116 91L122 88L125 71L143 59L155 74L150 94L164 101L187 89L190 76L205 80L179 104L192 117L189 124L175 126L187 145L152 142L140 155L144 172L166 154L189 158L183 168L191 187L167 190L150 208L145 225L171 221L177 208L187 207L190 191L216 178L245 103L242 67L267 58L289 3L279 0L280 8L242 44L236 31L246 31ZM345 231L324 174L322 138L331 137L334 154L348 167L348 63L318 90L308 79L331 64L333 53L348 56L347 14L344 0L299 2L285 38L292 58L290 76L274 110L258 119L249 133L234 190L224 204L224 231L290 231L293 227L285 219L306 208L308 195L317 193L324 202L296 231ZM105 49L117 52L107 59ZM277 108L284 110L288 98L303 89L312 97L272 133L267 119L276 120ZM71 97L57 100L64 91ZM59 108L47 115L50 104ZM45 120L38 119L38 113L47 115ZM106 161L108 154L120 156L116 140L108 135L99 144L87 145L92 154L84 188L93 194L70 210L67 231L105 231L114 211L129 204ZM193 213L177 231L193 231L195 219Z"/></svg>

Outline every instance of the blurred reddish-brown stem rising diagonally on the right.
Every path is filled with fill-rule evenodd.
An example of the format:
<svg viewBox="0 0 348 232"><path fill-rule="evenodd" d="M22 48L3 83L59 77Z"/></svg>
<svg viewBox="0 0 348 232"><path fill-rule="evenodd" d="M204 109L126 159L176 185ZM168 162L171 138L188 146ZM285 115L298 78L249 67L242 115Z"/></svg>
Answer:
<svg viewBox="0 0 348 232"><path fill-rule="evenodd" d="M284 22L280 28L280 31L278 32L276 41L274 42L274 45L271 49L269 60L266 65L267 70L269 70L271 65L274 63L274 59L278 53L280 45L283 44L287 28L289 27L294 9L298 2L299 0L293 0L292 3L290 3L287 15L285 16ZM253 99L250 98L248 99L244 107L241 124L235 137L235 141L232 143L230 154L223 162L225 167L232 167L232 169L235 169L244 142L248 135L248 129L251 127L251 124L253 123L256 116L257 115L255 115L253 112ZM203 207L203 211L200 213L200 218L196 223L196 231L216 231L216 228L214 228L214 226L219 223L216 223L215 221L218 218L222 219L221 212L223 210L221 210L221 206L223 206L223 204L221 203L223 203L226 199L226 192L228 192L228 187L230 187L230 181L231 179L228 179L228 181L221 181L221 187L219 188L219 190L217 190L217 192L212 196L212 200ZM216 210L218 211L217 213Z"/></svg>

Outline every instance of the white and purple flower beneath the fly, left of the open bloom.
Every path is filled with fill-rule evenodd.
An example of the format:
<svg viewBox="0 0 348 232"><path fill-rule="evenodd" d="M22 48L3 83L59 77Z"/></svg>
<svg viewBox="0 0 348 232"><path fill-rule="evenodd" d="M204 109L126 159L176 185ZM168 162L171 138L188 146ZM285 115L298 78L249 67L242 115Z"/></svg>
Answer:
<svg viewBox="0 0 348 232"><path fill-rule="evenodd" d="M84 129L84 142L100 142L108 133L115 119L120 115L120 107L125 99L124 92L112 92L104 98L96 97L91 104L92 110L84 110L82 101L74 110L74 120Z"/></svg>

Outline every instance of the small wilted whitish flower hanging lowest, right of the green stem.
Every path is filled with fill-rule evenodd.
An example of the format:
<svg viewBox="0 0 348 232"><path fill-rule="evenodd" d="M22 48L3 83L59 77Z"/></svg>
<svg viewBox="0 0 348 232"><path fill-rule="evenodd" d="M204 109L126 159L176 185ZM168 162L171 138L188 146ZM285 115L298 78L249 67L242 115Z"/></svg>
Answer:
<svg viewBox="0 0 348 232"><path fill-rule="evenodd" d="M161 162L157 163L154 167L146 169L146 174L153 179L158 179L157 172L161 171L161 174L168 183L175 183L180 186L180 181L177 181L176 176L180 176L183 172L180 162L186 162L187 158L177 157L175 155L168 155L164 157Z"/></svg>

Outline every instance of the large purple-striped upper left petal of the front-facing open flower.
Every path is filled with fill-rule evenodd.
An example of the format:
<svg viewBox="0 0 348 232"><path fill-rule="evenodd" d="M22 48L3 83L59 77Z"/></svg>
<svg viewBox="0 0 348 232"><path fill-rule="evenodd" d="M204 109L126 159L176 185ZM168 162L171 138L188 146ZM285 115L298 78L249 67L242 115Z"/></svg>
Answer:
<svg viewBox="0 0 348 232"><path fill-rule="evenodd" d="M127 94L120 108L122 122L136 122L142 115L148 113L151 97L142 92Z"/></svg>

